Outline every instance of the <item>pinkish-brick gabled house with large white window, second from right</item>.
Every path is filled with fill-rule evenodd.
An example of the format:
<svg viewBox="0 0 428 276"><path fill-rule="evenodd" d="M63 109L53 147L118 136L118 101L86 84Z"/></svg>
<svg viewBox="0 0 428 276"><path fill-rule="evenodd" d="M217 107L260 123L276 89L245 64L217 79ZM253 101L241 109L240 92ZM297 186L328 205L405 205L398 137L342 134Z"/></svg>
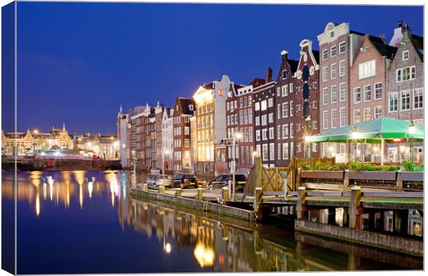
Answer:
<svg viewBox="0 0 428 276"><path fill-rule="evenodd" d="M389 46L380 37L364 36L360 52L351 66L351 124L386 115L386 73L397 48ZM324 119L324 118L323 118ZM357 159L380 161L379 147L358 144ZM375 150L377 149L377 150Z"/></svg>

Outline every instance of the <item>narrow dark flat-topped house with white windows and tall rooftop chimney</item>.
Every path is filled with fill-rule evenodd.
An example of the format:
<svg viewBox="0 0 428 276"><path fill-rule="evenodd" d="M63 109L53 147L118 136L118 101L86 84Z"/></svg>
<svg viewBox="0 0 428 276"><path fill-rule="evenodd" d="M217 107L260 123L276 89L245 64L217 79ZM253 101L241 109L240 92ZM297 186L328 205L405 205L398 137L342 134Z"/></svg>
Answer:
<svg viewBox="0 0 428 276"><path fill-rule="evenodd" d="M275 81L272 69L265 74L265 83L253 88L255 152L266 167L275 166Z"/></svg>

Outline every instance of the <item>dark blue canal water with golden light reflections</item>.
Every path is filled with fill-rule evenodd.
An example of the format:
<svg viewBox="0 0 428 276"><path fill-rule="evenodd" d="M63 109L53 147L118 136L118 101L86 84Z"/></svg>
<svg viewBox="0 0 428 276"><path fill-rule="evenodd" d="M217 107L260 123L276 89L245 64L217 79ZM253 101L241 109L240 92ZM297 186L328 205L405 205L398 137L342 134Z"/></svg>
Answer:
<svg viewBox="0 0 428 276"><path fill-rule="evenodd" d="M13 176L1 174L10 212ZM418 257L134 199L130 179L122 171L17 172L17 273L422 269Z"/></svg>

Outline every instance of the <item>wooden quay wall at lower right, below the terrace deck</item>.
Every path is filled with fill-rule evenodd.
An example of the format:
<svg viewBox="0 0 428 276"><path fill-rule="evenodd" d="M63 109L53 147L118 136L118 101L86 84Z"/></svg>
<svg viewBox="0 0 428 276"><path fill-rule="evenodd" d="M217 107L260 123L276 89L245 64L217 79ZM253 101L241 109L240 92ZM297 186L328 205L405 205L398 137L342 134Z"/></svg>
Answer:
<svg viewBox="0 0 428 276"><path fill-rule="evenodd" d="M396 237L393 235L356 230L353 228L330 224L319 224L317 222L300 219L295 219L294 226L295 230L304 233L311 233L333 239L341 239L347 242L393 250L395 252L409 255L423 256L424 244L418 239Z"/></svg>

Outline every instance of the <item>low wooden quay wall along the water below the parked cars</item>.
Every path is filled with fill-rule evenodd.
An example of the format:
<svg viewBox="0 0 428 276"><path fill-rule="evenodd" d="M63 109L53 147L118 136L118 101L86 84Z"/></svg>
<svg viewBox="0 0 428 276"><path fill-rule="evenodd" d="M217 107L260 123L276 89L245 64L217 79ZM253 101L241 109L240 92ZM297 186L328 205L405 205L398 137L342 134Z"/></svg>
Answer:
<svg viewBox="0 0 428 276"><path fill-rule="evenodd" d="M186 197L175 197L173 195L154 193L148 190L142 190L138 188L130 188L130 195L134 195L137 197L148 197L152 199L157 199L159 201L165 201L172 204L187 206L190 208L195 208L197 210L204 210L206 212L217 213L229 217L236 217L247 221L254 220L254 212L251 210L243 210L240 208L235 208L222 204L213 204L209 201L189 199Z"/></svg>

